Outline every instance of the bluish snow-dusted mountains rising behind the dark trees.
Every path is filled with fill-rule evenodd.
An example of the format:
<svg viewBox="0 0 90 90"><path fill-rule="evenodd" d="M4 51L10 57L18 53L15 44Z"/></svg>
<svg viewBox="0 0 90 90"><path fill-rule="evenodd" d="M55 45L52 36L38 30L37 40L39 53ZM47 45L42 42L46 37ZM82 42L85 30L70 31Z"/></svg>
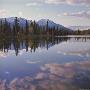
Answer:
<svg viewBox="0 0 90 90"><path fill-rule="evenodd" d="M14 24L15 18L16 17L9 17L9 18L6 18L6 20L12 26ZM5 18L0 18L0 20L2 20L4 22ZM20 26L25 27L27 19L19 17L19 18L17 18L17 20L18 20L18 23ZM27 20L27 21L30 24L32 20ZM64 30L70 30L70 29L64 27L63 25L57 24L57 23L55 23L49 19L41 19L41 20L36 21L36 23L42 27L42 26L47 25L47 21L48 21L48 27L50 27L50 28L53 28L53 27L57 28L58 27L59 29L62 29L62 30L63 29Z"/></svg>

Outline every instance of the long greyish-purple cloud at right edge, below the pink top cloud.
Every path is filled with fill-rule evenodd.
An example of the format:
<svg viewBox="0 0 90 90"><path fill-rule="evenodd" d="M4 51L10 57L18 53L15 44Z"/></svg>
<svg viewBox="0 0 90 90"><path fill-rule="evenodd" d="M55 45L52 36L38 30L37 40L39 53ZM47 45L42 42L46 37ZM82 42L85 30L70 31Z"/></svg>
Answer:
<svg viewBox="0 0 90 90"><path fill-rule="evenodd" d="M85 17L90 18L90 11L80 11L76 13L64 13L64 16L75 16L75 17Z"/></svg>

